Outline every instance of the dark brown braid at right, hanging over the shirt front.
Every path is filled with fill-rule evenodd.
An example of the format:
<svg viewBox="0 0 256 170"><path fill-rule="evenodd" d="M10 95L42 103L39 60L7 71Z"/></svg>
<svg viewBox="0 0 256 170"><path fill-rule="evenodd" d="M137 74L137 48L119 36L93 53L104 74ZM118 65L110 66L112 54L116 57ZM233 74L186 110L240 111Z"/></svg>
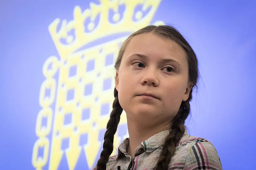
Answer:
<svg viewBox="0 0 256 170"><path fill-rule="evenodd" d="M182 101L180 109L177 115L172 120L171 132L165 138L164 146L159 159L156 163L154 170L168 170L168 165L175 153L177 143L180 141L182 135L185 132L184 123L190 113L190 103L192 99L192 89L189 94L189 98L186 101Z"/></svg>

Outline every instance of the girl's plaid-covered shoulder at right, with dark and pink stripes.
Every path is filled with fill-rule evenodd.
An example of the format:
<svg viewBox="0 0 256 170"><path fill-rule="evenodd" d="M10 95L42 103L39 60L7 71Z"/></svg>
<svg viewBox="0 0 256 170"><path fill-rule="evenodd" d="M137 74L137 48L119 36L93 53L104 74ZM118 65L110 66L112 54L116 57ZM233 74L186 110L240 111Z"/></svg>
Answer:
<svg viewBox="0 0 256 170"><path fill-rule="evenodd" d="M187 153L184 169L222 170L217 150L209 140L184 135L177 145L186 147Z"/></svg>

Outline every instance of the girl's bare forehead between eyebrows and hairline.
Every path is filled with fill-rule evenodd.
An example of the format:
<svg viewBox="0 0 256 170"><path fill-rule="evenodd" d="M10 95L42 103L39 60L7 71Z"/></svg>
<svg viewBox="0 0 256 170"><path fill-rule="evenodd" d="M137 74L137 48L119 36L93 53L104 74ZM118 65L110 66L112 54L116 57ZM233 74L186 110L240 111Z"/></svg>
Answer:
<svg viewBox="0 0 256 170"><path fill-rule="evenodd" d="M134 53L146 55L151 59L171 58L181 64L187 64L186 53L179 44L152 32L134 36L127 44L123 57Z"/></svg>

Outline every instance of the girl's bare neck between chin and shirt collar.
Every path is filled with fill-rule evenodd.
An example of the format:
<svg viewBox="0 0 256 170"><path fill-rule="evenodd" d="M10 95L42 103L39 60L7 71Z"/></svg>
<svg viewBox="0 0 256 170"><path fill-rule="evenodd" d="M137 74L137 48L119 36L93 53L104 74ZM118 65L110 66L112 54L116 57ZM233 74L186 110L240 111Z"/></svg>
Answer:
<svg viewBox="0 0 256 170"><path fill-rule="evenodd" d="M169 122L163 124L154 124L154 125L146 125L141 121L128 121L128 132L129 132L129 139L130 143L127 149L128 155L134 158L135 150L138 146L141 145L141 142L147 140L151 136L162 132L164 130L168 130L170 128Z"/></svg>

